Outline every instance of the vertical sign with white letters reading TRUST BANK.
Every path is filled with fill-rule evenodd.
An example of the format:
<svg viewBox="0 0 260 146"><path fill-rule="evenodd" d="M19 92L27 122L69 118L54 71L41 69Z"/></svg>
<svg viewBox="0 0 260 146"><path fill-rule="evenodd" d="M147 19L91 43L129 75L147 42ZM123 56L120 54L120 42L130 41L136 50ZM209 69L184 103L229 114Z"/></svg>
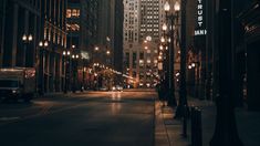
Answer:
<svg viewBox="0 0 260 146"><path fill-rule="evenodd" d="M196 19L196 28L195 35L206 35L207 30L205 27L205 0L197 0L197 19Z"/></svg>

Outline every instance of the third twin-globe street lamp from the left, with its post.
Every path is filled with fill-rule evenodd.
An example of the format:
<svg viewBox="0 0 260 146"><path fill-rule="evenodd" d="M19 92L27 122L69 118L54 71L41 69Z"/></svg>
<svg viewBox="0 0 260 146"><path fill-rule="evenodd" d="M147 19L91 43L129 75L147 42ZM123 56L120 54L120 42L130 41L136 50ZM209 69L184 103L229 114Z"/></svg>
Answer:
<svg viewBox="0 0 260 146"><path fill-rule="evenodd" d="M65 85L64 85L64 93L67 93L67 87L69 87L69 74L70 74L70 51L63 51L63 56L64 56L64 65L65 65Z"/></svg>

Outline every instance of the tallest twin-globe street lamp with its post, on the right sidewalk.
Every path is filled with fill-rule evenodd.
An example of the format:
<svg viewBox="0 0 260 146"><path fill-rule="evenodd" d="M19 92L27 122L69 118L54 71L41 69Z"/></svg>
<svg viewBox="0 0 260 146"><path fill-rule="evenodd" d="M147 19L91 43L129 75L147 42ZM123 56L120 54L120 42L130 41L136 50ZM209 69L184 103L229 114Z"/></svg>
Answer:
<svg viewBox="0 0 260 146"><path fill-rule="evenodd" d="M174 80L174 62L175 62L175 48L174 48L174 24L175 24L175 19L178 17L177 14L170 13L168 15L168 12L170 10L170 6L168 3L168 1L165 2L164 6L165 12L166 12L166 20L169 21L170 28L169 28L169 49L168 49L168 53L169 53L169 58L168 58L168 105L169 106L176 106L177 102L175 98L175 80ZM179 11L179 7L178 7L178 2L175 3L174 7L175 11L178 12Z"/></svg>

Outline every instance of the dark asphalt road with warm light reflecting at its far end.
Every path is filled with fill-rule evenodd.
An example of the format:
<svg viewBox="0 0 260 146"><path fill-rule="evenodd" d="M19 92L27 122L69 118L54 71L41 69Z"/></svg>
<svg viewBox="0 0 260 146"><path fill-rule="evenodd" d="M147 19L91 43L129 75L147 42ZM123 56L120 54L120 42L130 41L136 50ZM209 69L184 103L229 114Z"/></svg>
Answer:
<svg viewBox="0 0 260 146"><path fill-rule="evenodd" d="M153 146L155 92L89 92L0 103L1 146Z"/></svg>

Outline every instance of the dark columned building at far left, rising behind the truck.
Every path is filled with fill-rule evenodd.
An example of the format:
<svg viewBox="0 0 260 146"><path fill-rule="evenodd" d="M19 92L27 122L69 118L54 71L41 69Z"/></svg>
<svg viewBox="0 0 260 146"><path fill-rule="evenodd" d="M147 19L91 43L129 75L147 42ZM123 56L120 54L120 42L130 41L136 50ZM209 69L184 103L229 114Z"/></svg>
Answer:
<svg viewBox="0 0 260 146"><path fill-rule="evenodd" d="M0 2L0 66L35 65L39 9L38 0Z"/></svg>

